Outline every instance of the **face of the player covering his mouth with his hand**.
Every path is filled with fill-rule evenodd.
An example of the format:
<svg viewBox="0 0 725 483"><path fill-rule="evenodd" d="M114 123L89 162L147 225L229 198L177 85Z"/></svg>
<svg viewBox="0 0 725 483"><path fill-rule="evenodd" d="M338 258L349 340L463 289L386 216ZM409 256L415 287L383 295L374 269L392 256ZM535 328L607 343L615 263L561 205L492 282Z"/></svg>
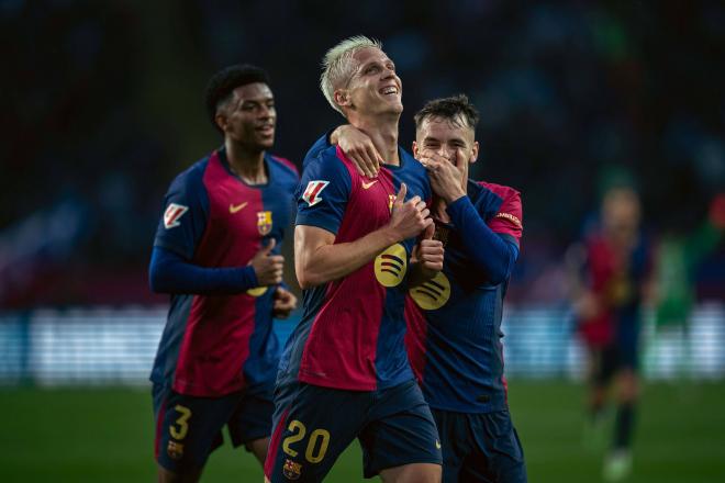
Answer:
<svg viewBox="0 0 725 483"><path fill-rule="evenodd" d="M461 182L468 179L468 166L476 162L478 157L478 142L475 139L472 127L458 117L453 122L443 117L426 117L415 132L413 155L428 149L443 156L456 165L462 172Z"/></svg>

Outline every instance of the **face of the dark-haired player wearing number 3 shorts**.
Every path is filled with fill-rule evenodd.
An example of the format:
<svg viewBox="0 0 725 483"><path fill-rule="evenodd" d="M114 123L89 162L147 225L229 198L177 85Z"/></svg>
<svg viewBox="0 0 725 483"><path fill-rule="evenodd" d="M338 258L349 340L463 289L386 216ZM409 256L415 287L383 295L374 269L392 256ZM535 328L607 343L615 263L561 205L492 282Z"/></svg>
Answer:
<svg viewBox="0 0 725 483"><path fill-rule="evenodd" d="M277 111L269 86L263 82L241 86L222 113L226 136L249 149L268 149L275 143Z"/></svg>

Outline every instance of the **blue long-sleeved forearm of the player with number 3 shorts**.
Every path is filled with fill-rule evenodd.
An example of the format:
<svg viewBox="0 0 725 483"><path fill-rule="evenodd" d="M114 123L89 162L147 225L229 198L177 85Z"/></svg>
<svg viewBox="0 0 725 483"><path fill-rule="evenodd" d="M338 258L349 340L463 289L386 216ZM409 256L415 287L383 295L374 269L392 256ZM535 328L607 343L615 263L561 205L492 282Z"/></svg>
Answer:
<svg viewBox="0 0 725 483"><path fill-rule="evenodd" d="M232 295L257 287L252 266L207 268L155 247L148 269L152 291L168 294Z"/></svg>

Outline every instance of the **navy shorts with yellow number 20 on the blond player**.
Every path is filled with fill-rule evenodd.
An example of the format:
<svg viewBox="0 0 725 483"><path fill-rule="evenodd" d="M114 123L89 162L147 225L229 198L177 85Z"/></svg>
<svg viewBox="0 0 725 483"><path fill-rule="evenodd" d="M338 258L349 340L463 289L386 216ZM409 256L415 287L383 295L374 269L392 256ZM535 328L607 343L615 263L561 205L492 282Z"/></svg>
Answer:
<svg viewBox="0 0 725 483"><path fill-rule="evenodd" d="M322 481L356 437L365 478L409 463L442 463L435 423L415 381L372 392L291 383L275 393L265 474L271 482Z"/></svg>

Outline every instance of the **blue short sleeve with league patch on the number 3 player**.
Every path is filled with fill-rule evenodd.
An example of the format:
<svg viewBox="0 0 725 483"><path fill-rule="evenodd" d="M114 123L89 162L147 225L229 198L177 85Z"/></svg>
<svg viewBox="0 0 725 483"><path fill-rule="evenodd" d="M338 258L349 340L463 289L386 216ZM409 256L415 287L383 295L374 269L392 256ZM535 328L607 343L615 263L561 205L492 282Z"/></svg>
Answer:
<svg viewBox="0 0 725 483"><path fill-rule="evenodd" d="M179 175L164 198L164 213L156 228L154 246L166 248L187 260L193 258L209 216L209 196L202 169Z"/></svg>

